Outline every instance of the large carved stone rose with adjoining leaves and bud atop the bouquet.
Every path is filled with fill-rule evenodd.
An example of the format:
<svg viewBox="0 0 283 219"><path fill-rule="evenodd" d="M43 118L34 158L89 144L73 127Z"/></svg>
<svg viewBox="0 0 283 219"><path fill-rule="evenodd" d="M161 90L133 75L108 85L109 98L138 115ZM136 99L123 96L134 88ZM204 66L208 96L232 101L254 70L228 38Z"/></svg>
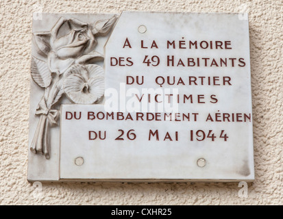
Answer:
<svg viewBox="0 0 283 219"><path fill-rule="evenodd" d="M116 16L97 21L94 25L75 18L61 17L50 32L34 34L36 52L47 58L53 73L64 73L72 64L93 64L103 55L94 51L96 36L108 34Z"/></svg>

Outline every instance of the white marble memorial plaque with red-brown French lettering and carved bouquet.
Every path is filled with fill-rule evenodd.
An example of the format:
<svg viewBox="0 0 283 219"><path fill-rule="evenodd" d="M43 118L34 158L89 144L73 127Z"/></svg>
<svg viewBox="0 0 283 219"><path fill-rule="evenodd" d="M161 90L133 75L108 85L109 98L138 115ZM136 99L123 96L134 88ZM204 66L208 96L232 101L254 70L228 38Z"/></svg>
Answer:
<svg viewBox="0 0 283 219"><path fill-rule="evenodd" d="M254 180L239 14L43 14L31 75L29 181Z"/></svg>

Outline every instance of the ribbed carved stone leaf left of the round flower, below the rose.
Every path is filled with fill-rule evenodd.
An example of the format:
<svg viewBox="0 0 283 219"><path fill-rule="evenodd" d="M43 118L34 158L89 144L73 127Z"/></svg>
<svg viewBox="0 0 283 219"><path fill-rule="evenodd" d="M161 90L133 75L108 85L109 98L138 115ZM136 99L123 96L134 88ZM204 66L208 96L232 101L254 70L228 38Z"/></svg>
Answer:
<svg viewBox="0 0 283 219"><path fill-rule="evenodd" d="M32 79L34 79L41 88L47 88L50 85L52 77L46 62L32 57L31 74Z"/></svg>

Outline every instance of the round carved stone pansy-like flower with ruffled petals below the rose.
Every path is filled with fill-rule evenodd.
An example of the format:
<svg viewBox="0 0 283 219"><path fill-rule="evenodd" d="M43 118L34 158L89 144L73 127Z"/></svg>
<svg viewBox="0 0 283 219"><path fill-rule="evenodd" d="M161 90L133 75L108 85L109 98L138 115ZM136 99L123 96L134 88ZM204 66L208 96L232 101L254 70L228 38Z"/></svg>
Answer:
<svg viewBox="0 0 283 219"><path fill-rule="evenodd" d="M104 94L103 68L96 64L75 64L66 71L64 92L73 102L93 104Z"/></svg>

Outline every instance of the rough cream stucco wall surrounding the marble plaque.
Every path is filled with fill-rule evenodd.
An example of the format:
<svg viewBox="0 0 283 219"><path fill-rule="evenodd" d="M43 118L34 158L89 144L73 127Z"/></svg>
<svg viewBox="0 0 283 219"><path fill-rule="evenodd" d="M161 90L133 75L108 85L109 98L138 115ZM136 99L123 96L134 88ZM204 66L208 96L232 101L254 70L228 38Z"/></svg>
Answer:
<svg viewBox="0 0 283 219"><path fill-rule="evenodd" d="M238 183L27 182L32 12L248 12L256 180ZM0 1L1 205L282 205L283 1Z"/></svg>

